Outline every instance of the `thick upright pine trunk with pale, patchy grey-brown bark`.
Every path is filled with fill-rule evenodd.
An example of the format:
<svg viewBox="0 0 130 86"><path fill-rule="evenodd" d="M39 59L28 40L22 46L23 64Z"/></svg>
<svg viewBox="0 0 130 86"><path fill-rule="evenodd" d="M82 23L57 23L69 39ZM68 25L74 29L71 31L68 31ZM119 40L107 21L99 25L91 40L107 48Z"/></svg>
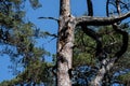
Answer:
<svg viewBox="0 0 130 86"><path fill-rule="evenodd" d="M74 27L70 20L69 0L61 0L57 39L57 86L72 86Z"/></svg>

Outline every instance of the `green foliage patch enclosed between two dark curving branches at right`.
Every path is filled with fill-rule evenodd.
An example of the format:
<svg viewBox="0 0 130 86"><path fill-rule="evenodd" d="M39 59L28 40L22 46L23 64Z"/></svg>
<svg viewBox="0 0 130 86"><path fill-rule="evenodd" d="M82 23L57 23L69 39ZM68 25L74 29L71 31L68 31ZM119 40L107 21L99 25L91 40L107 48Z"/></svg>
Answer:
<svg viewBox="0 0 130 86"><path fill-rule="evenodd" d="M101 27L99 32L102 34L103 47L110 53L109 57L114 57L120 49L119 46L122 44L122 37L112 26Z"/></svg>

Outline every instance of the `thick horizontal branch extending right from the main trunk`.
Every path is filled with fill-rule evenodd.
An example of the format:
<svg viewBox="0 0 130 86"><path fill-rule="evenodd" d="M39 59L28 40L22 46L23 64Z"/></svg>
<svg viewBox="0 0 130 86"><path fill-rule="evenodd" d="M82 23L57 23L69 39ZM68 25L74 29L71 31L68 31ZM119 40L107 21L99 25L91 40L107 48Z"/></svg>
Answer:
<svg viewBox="0 0 130 86"><path fill-rule="evenodd" d="M112 25L114 23L118 23L118 22L123 20L128 17L130 17L130 12L122 14L120 16L114 16L114 17L81 16L81 17L75 18L75 22L77 25L84 24L88 26L106 26L106 25Z"/></svg>

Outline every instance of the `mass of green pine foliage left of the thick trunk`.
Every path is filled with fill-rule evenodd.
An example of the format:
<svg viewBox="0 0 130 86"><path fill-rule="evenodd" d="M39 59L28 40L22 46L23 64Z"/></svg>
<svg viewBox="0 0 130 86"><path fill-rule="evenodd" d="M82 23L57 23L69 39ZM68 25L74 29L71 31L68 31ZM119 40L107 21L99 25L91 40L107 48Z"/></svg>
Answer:
<svg viewBox="0 0 130 86"><path fill-rule="evenodd" d="M3 0L0 2L0 43L6 45L0 53L11 57L14 67L10 68L16 69L13 70L14 74L18 71L17 68L24 69L18 71L18 74L16 73L16 77L3 81L0 86L50 83L53 80L50 71L53 63L44 61L44 56L50 56L50 53L43 47L37 47L35 41L35 37L44 38L47 34L40 30L39 34L36 34L36 26L30 22L24 22L26 12L23 9L23 2L25 1ZM38 0L30 0L30 4L34 9L41 6Z"/></svg>

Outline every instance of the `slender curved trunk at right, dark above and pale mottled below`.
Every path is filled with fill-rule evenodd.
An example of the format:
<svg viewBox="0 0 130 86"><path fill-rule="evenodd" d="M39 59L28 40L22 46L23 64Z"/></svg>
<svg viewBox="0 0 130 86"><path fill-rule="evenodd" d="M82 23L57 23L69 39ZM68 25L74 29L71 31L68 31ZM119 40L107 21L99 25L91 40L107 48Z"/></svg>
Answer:
<svg viewBox="0 0 130 86"><path fill-rule="evenodd" d="M120 29L119 26L116 24L113 25L113 28L115 31L120 33L122 35L122 45L120 49L115 54L115 57L113 58L105 58L102 60L101 69L98 72L98 75L91 82L91 86L102 86L102 80L104 78L104 75L107 74L108 71L114 67L114 63L126 53L128 48L128 42L129 42L129 34L128 32Z"/></svg>

